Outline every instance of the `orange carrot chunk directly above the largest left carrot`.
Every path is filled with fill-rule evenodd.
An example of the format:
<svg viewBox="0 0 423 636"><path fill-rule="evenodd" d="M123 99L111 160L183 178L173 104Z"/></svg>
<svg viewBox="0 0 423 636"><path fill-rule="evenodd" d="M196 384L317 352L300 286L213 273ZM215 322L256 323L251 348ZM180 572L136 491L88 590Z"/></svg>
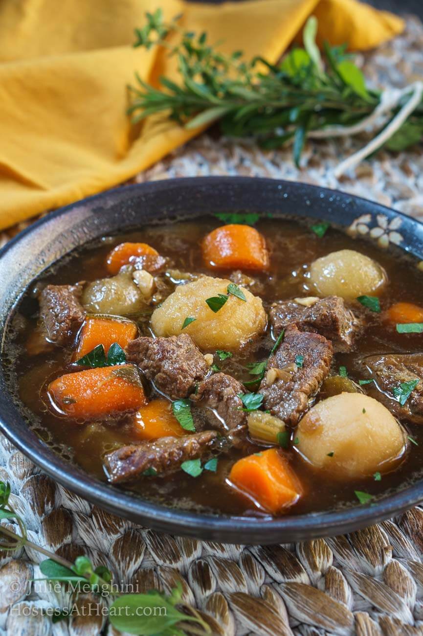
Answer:
<svg viewBox="0 0 423 636"><path fill-rule="evenodd" d="M128 342L136 338L137 333L138 328L135 322L102 316L88 316L78 337L78 348L74 354L74 360L86 356L97 345L103 345L106 354L114 342L125 349Z"/></svg>

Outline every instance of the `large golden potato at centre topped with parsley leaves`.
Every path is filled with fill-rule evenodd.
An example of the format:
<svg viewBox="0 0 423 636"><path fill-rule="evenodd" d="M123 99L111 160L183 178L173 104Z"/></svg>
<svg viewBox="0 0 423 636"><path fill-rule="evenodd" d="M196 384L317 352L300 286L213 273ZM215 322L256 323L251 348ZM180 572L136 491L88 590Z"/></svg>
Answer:
<svg viewBox="0 0 423 636"><path fill-rule="evenodd" d="M186 285L179 285L156 308L151 326L157 336L177 336L187 317L195 318L186 328L197 347L203 351L215 349L237 350L250 338L262 333L266 314L261 298L242 289L246 301L230 295L218 312L212 312L207 298L227 294L230 280L202 276Z"/></svg>

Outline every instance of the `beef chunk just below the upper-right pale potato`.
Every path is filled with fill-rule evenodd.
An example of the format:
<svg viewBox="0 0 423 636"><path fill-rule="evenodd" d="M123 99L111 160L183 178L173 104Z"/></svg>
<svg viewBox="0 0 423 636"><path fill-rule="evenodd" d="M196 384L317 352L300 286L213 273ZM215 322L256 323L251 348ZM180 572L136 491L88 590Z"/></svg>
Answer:
<svg viewBox="0 0 423 636"><path fill-rule="evenodd" d="M303 300L302 298L298 300ZM307 299L304 299L305 301ZM356 316L339 296L310 299L309 307L295 300L281 300L270 308L270 322L276 334L295 324L300 331L314 331L331 340L335 351L349 351L359 328Z"/></svg>

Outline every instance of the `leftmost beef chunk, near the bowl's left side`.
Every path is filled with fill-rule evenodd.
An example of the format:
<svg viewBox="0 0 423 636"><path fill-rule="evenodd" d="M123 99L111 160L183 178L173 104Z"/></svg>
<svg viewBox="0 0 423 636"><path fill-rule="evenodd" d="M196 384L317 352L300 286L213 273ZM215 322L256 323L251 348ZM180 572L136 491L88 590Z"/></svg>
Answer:
<svg viewBox="0 0 423 636"><path fill-rule="evenodd" d="M47 338L56 345L71 343L85 319L81 293L80 285L47 285L39 296Z"/></svg>

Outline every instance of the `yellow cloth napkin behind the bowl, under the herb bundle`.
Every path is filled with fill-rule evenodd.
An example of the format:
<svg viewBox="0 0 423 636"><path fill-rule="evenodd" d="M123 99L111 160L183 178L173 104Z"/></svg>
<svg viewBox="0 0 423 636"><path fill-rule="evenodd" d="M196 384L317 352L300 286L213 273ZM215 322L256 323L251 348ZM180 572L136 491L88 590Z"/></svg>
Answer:
<svg viewBox="0 0 423 636"><path fill-rule="evenodd" d="M144 13L165 17L275 62L307 17L319 38L377 46L400 18L356 0L3 0L0 3L0 229L106 190L146 169L198 131L149 118L135 139L125 109L137 70L147 81L174 61L132 48Z"/></svg>

